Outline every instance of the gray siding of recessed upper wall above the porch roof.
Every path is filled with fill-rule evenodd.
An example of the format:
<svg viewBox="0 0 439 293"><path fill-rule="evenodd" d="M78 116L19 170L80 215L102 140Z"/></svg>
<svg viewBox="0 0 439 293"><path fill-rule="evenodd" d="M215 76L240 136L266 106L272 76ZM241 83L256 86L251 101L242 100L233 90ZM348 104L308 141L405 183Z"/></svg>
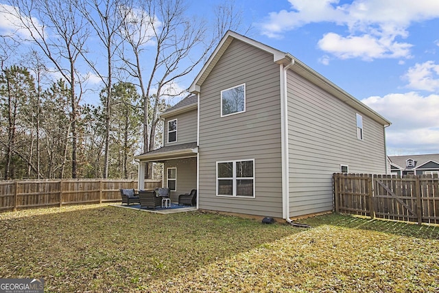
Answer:
<svg viewBox="0 0 439 293"><path fill-rule="evenodd" d="M167 122L177 119L177 141L174 143L167 142ZM197 110L190 110L185 113L175 115L165 119L165 143L167 145L176 145L182 143L193 143L197 141Z"/></svg>

